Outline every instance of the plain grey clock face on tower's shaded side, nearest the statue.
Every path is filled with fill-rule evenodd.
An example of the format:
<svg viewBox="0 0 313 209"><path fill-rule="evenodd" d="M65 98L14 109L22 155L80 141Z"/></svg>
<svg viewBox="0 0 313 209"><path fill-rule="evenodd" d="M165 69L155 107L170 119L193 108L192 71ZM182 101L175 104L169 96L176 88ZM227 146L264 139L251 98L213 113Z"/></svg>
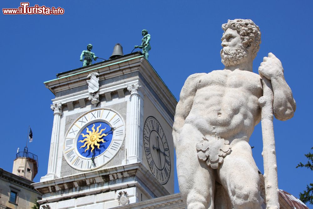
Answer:
<svg viewBox="0 0 313 209"><path fill-rule="evenodd" d="M143 140L146 157L152 174L161 184L166 184L171 174L171 158L166 136L156 118L146 119Z"/></svg>

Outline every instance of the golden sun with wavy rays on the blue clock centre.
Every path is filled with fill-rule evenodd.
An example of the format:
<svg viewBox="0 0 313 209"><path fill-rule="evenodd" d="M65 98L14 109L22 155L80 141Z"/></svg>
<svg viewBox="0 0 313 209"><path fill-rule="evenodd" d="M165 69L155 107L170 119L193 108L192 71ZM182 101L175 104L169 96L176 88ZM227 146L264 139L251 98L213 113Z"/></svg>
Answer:
<svg viewBox="0 0 313 209"><path fill-rule="evenodd" d="M101 124L100 124L101 126ZM100 148L100 144L98 144L98 142L105 142L101 137L103 136L107 136L108 134L102 133L102 131L104 131L106 128L101 129L99 132L99 128L100 126L97 127L97 130L95 130L95 124L93 125L92 132L87 128L87 133L89 134L80 134L83 135L84 140L80 140L79 142L85 142L84 145L82 145L80 148L87 146L87 148L85 149L85 152L90 149L91 147L91 152L95 149L94 145L98 147L98 149ZM102 134L101 134L102 133Z"/></svg>

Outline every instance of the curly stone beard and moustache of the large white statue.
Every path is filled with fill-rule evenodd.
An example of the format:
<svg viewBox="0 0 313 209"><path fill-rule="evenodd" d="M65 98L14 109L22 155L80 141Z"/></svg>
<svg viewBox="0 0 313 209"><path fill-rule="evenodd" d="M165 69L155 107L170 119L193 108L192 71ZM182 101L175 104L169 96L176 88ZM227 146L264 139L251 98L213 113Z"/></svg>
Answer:
<svg viewBox="0 0 313 209"><path fill-rule="evenodd" d="M229 48L223 47L221 50L222 63L227 66L238 65L247 57L245 47L240 44L239 46Z"/></svg>

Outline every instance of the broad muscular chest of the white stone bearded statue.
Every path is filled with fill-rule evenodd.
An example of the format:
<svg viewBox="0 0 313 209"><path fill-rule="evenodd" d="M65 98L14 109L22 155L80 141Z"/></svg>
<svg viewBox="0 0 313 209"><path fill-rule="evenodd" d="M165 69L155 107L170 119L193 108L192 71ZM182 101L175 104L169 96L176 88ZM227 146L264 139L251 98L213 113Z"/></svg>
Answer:
<svg viewBox="0 0 313 209"><path fill-rule="evenodd" d="M211 87L220 91L241 89L255 96L262 94L260 76L249 71L217 70L199 77L197 91L209 90Z"/></svg>

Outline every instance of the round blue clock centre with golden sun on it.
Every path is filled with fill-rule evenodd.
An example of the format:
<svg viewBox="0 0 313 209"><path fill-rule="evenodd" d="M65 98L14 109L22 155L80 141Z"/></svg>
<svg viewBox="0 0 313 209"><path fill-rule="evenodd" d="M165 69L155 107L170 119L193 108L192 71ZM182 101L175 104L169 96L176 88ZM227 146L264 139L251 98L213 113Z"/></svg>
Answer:
<svg viewBox="0 0 313 209"><path fill-rule="evenodd" d="M110 146L113 130L108 123L95 122L86 126L77 138L77 151L86 158L97 157Z"/></svg>

